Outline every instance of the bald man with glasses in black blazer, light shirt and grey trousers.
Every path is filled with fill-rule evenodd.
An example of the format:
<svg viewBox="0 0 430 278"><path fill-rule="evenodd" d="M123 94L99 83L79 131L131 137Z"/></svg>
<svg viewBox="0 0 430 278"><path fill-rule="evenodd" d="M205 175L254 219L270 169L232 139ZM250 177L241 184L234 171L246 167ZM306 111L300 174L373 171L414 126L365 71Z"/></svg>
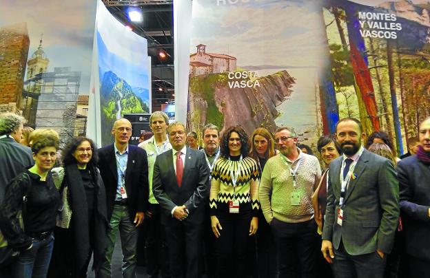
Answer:
<svg viewBox="0 0 430 278"><path fill-rule="evenodd" d="M106 188L107 248L98 277L110 278L110 262L119 230L123 249L123 277L136 277L137 227L143 222L148 200L146 151L128 145L132 124L121 118L112 128L115 142L99 149L99 168Z"/></svg>

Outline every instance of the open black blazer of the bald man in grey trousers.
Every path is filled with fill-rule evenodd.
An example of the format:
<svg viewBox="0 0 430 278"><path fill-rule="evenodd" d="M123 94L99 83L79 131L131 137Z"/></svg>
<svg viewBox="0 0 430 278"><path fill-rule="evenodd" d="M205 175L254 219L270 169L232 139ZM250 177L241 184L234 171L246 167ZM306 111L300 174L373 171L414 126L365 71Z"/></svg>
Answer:
<svg viewBox="0 0 430 278"><path fill-rule="evenodd" d="M118 171L114 145L99 149L99 169L106 189L107 218L110 220L116 197ZM128 145L127 169L125 170L125 190L127 191L128 213L131 220L137 212L145 212L148 200L146 151L137 146Z"/></svg>

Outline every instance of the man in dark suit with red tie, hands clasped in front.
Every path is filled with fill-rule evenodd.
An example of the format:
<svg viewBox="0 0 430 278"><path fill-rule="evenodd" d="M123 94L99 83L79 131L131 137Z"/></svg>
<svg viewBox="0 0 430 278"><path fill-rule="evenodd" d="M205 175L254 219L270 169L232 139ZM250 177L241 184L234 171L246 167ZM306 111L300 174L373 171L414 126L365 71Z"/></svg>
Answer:
<svg viewBox="0 0 430 278"><path fill-rule="evenodd" d="M170 124L167 133L173 149L156 157L152 191L166 227L172 278L196 278L209 168L205 153L185 147L187 134L181 122Z"/></svg>

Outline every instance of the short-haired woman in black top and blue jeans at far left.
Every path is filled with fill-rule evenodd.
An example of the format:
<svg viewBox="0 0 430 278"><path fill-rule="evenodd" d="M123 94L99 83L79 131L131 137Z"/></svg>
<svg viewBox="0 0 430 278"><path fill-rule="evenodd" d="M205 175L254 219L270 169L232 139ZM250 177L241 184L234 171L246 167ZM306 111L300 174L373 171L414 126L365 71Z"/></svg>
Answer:
<svg viewBox="0 0 430 278"><path fill-rule="evenodd" d="M8 184L0 206L0 228L8 245L19 250L14 265L17 278L46 277L54 246L53 231L60 204L51 169L59 147L58 134L41 129L33 140L34 166ZM23 228L17 215L22 211Z"/></svg>

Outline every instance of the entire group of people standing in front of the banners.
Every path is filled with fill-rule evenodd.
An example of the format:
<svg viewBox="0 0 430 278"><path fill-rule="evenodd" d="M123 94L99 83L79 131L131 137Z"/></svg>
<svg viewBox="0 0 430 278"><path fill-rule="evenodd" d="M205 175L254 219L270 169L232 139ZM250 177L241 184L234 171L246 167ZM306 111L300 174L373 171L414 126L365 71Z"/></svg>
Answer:
<svg viewBox="0 0 430 278"><path fill-rule="evenodd" d="M400 161L385 133L364 147L360 122L340 120L317 143L323 172L289 127L209 124L202 149L162 111L150 127L133 146L116 120L112 145L73 138L54 167L58 134L37 129L24 147L23 118L2 114L0 228L19 255L0 277L86 277L91 257L111 277L118 232L123 277L142 248L149 277L427 276L430 118Z"/></svg>

